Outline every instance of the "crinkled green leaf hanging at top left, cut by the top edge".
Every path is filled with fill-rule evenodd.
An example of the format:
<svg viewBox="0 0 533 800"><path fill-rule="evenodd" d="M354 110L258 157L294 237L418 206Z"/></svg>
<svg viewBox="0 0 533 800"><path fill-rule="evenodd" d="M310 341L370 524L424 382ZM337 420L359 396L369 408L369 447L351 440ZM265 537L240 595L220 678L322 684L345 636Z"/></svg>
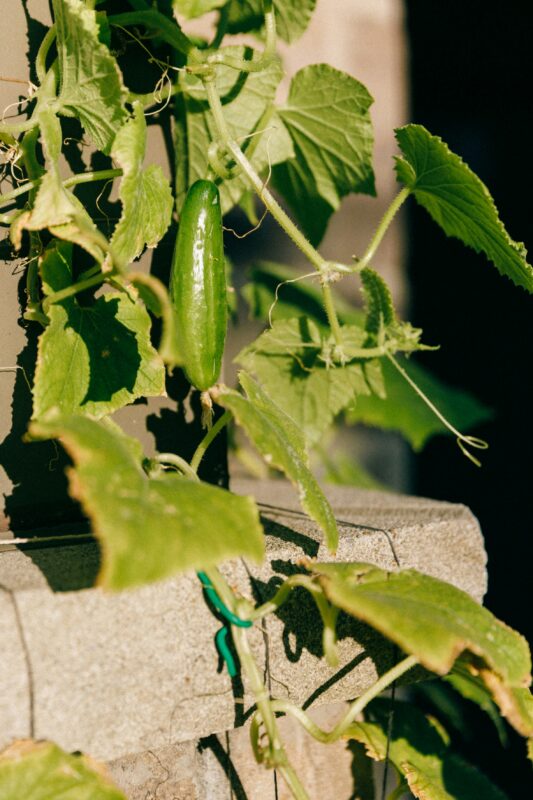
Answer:
<svg viewBox="0 0 533 800"><path fill-rule="evenodd" d="M60 113L78 117L94 144L109 153L128 117L127 90L114 57L99 40L96 12L82 0L52 0L59 62Z"/></svg>

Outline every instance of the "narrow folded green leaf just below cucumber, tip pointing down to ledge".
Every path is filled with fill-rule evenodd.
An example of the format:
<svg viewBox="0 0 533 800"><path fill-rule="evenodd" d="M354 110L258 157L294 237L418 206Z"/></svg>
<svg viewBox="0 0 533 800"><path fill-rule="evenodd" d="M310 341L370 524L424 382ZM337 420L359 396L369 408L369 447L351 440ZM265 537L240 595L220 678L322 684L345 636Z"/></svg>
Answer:
<svg viewBox="0 0 533 800"><path fill-rule="evenodd" d="M303 510L322 528L328 548L335 550L337 523L309 469L300 429L249 375L241 373L240 382L247 397L223 388L217 402L231 411L267 464L281 470L296 486Z"/></svg>

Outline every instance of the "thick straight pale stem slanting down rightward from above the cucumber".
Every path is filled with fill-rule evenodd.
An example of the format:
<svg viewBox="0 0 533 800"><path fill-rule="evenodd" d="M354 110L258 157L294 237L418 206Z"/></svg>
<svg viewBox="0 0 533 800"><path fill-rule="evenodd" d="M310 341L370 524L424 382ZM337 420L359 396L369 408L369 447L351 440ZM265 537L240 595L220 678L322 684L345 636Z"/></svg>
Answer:
<svg viewBox="0 0 533 800"><path fill-rule="evenodd" d="M204 86L207 94L209 107L213 115L213 120L217 129L217 133L221 142L225 145L227 150L233 156L235 162L242 168L253 188L268 208L276 222L283 228L287 236L292 239L296 247L298 247L305 257L313 264L318 272L324 272L328 268L328 262L322 258L320 253L315 250L313 245L306 239L300 229L294 224L292 219L285 213L278 201L273 197L270 191L265 186L253 166L250 164L241 148L234 141L229 131L224 118L222 110L222 103L218 96L216 86L212 77L204 78Z"/></svg>

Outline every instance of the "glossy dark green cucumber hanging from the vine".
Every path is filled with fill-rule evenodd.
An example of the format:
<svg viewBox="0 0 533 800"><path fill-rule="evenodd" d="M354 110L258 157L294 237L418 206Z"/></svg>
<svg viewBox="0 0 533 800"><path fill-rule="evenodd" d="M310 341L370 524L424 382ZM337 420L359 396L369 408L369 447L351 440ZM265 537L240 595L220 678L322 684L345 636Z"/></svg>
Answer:
<svg viewBox="0 0 533 800"><path fill-rule="evenodd" d="M205 392L220 375L227 327L222 213L212 181L196 181L185 198L172 258L170 299L182 367L190 383Z"/></svg>

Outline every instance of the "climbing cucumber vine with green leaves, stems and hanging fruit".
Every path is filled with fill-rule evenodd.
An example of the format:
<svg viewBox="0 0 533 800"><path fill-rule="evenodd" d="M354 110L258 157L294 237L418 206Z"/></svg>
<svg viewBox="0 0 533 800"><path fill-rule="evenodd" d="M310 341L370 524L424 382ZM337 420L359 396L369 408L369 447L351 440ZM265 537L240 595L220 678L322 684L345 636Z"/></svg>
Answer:
<svg viewBox="0 0 533 800"><path fill-rule="evenodd" d="M410 789L426 799L501 798L454 754L440 727L404 703L395 707L402 736L388 741L388 701L376 698L421 665L449 676L492 713L498 707L529 739L531 753L525 640L453 586L415 570L386 573L371 564L308 561L265 603L252 603L233 591L218 565L236 556L256 562L264 557L257 505L252 497L201 481L198 468L220 431L230 422L239 426L268 466L294 484L303 511L335 552L335 517L309 467L309 450L340 414L353 422L361 406L370 413L373 403L390 408L401 397L408 404L401 387L414 389L411 402L425 404L436 420L417 431L417 443L447 428L477 462L475 451L485 442L448 422L429 396L431 377L406 365L406 356L428 347L422 332L398 317L377 253L409 198L446 234L484 253L503 276L532 292L533 269L523 246L509 237L487 188L461 158L424 127L406 125L396 131L401 188L368 247L350 263L323 257L318 245L341 199L375 193L372 98L355 78L318 64L294 76L285 103L275 102L282 76L278 37L290 42L305 30L312 0L51 5L53 24L33 65L27 114L0 123L7 162L20 170L17 185L0 198L0 223L9 228L13 248L27 256L24 318L40 330L28 436L59 440L72 459L71 493L103 544L100 585L119 590L183 570L199 573L227 620L238 656L237 667L219 643L228 669L240 669L255 697L253 755L279 771L293 797L308 794L288 760L279 714L293 716L321 742L344 737L362 743L369 757L388 759L399 781L391 797ZM213 9L218 25L212 41L187 35L173 13L192 18ZM256 35L257 47L232 42L232 34L242 31ZM131 48L128 60L124 53ZM149 87L139 82L140 59ZM159 166L144 164L148 118L171 121L172 182ZM67 124L90 142L102 168L64 176ZM113 226L76 194L87 183L105 192L107 182L115 183L121 205ZM292 305L285 303L279 313L276 287L292 280L290 271L276 264L254 267L245 294L269 325L237 357L238 388L219 381L227 323L222 215L236 206L254 225L258 208L271 214L309 261L318 286L299 284ZM167 287L135 262L161 242L173 210L179 228ZM363 312L333 290L355 280ZM175 452L147 459L112 414L139 398L162 395L165 373L178 369L206 407L214 403L223 412L214 424L206 418L192 458ZM471 407L463 423L479 418L480 410ZM270 695L248 646L248 628L275 613L296 587L316 602L330 664L337 663L340 610L375 627L403 653L330 731ZM32 786L39 782L32 776L42 774L51 795L86 785L88 791L96 787L98 796L121 796L90 762L51 743L17 743L0 755L2 796L36 798Z"/></svg>

